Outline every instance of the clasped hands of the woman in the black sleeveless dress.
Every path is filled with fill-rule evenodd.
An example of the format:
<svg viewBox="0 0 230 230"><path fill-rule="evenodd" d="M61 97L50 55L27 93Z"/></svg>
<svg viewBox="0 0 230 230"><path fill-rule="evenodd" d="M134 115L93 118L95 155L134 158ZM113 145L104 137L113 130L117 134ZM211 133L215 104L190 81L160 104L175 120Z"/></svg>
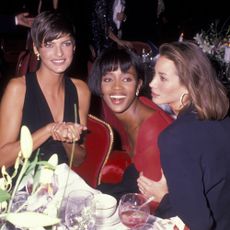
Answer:
<svg viewBox="0 0 230 230"><path fill-rule="evenodd" d="M73 122L53 123L50 133L54 140L72 143L78 141L87 127Z"/></svg>

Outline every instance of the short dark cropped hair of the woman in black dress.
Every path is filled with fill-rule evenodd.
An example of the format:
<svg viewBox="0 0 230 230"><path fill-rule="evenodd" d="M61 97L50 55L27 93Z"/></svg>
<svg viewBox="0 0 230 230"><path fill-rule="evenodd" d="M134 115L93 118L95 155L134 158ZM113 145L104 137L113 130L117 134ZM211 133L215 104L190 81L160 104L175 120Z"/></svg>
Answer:
<svg viewBox="0 0 230 230"><path fill-rule="evenodd" d="M31 37L35 46L41 47L43 42L49 42L63 35L75 37L73 24L61 12L44 11L38 14L31 27Z"/></svg>

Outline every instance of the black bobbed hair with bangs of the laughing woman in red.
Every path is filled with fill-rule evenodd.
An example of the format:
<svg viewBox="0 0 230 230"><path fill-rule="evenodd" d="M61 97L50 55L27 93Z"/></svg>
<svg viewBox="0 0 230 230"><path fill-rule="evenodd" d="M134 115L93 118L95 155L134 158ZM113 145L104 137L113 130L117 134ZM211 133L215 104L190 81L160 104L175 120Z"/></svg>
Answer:
<svg viewBox="0 0 230 230"><path fill-rule="evenodd" d="M118 68L126 73L131 67L134 67L137 73L137 80L144 80L144 68L140 57L133 51L126 48L107 48L96 58L92 70L89 74L88 85L93 94L101 95L102 77Z"/></svg>

